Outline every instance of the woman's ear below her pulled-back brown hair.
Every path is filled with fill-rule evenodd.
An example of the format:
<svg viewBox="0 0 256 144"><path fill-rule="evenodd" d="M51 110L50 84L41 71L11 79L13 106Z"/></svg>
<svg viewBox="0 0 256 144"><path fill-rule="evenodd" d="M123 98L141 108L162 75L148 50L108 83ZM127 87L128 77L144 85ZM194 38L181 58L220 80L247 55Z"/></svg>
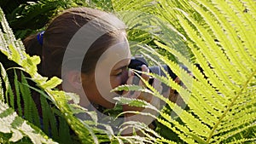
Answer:
<svg viewBox="0 0 256 144"><path fill-rule="evenodd" d="M64 87L63 87L64 86ZM81 72L79 71L69 71L65 74L62 84L63 90L70 92L77 92L83 89Z"/></svg>

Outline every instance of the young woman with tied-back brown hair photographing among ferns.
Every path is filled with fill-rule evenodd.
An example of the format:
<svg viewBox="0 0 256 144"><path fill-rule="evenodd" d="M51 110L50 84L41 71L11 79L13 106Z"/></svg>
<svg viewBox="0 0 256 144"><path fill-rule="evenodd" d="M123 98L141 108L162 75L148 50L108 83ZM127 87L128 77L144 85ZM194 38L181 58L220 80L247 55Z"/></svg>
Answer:
<svg viewBox="0 0 256 144"><path fill-rule="evenodd" d="M28 54L41 56L39 72L49 78L62 78L59 89L78 94L82 107L98 112L111 109L116 102L113 98L120 95L159 104L148 93L110 92L119 85L132 84L137 78L127 68L131 52L125 24L113 14L89 8L67 9L49 23L44 33L27 37L24 43ZM148 72L148 67L143 65L142 71ZM142 78L148 80L149 76L142 74ZM144 86L141 80L138 84ZM161 89L157 80L153 85ZM123 106L123 111L130 110L149 112ZM125 114L125 121L153 121L145 117Z"/></svg>

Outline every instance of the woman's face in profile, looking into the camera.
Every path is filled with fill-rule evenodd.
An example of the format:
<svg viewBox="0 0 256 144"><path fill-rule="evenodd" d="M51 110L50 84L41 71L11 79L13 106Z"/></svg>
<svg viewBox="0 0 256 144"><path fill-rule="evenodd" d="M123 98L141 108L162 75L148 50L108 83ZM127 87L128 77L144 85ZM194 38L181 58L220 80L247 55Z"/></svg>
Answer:
<svg viewBox="0 0 256 144"><path fill-rule="evenodd" d="M131 52L125 38L117 41L102 54L96 63L95 72L89 75L82 74L84 93L90 102L106 108L114 106L113 97L121 93L110 90L126 83L130 60Z"/></svg>

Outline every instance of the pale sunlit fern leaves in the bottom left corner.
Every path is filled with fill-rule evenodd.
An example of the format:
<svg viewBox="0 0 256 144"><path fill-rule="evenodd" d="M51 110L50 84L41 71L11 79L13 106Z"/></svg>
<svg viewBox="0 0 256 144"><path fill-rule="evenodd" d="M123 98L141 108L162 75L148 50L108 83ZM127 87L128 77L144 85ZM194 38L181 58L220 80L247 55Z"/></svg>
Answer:
<svg viewBox="0 0 256 144"><path fill-rule="evenodd" d="M2 64L1 66L1 73L3 76L4 81L8 81L6 72L3 69ZM2 79L2 78L1 78ZM0 79L0 82L2 82ZM5 83L8 84L8 83ZM34 125L29 124L23 118L20 118L16 112L14 112L13 108L9 107L7 104L3 103L4 94L3 94L3 87L0 87L1 98L0 98L0 135L1 135L1 143L7 143L8 141L27 141L33 143L55 143L47 135L35 127ZM7 91L7 90L6 90ZM10 98L12 99L12 98ZM18 101L20 102L20 101ZM13 103L13 102L11 102ZM27 105L28 106L28 105ZM20 111L19 111L20 112ZM30 112L29 114L32 114ZM37 116L38 117L38 116ZM9 135L12 134L12 135ZM28 141L26 137L29 137L31 141ZM9 139L6 139L6 138ZM25 138L24 138L25 137Z"/></svg>

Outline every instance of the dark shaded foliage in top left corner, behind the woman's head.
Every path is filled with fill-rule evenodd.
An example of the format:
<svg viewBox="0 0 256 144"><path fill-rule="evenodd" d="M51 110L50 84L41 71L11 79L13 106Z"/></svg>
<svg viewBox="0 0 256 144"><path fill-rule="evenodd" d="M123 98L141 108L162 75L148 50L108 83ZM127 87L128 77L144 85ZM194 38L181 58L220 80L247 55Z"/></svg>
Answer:
<svg viewBox="0 0 256 144"><path fill-rule="evenodd" d="M44 26L55 14L63 9L87 6L82 0L40 0L40 1L2 1L0 3L15 37L24 39L32 33L44 30Z"/></svg>

